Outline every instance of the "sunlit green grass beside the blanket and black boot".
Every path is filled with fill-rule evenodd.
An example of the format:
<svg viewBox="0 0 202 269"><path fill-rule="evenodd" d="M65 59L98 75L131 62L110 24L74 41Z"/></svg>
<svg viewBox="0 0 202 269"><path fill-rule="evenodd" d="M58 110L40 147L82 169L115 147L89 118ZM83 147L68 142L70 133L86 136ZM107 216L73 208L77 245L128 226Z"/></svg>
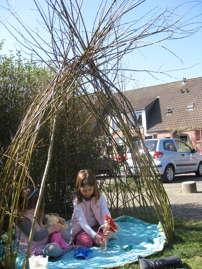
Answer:
<svg viewBox="0 0 202 269"><path fill-rule="evenodd" d="M178 255L184 262L183 268L202 269L202 222L190 223L175 219L173 244L168 244L162 251L147 258L160 259ZM114 267L117 269L139 269L138 262Z"/></svg>

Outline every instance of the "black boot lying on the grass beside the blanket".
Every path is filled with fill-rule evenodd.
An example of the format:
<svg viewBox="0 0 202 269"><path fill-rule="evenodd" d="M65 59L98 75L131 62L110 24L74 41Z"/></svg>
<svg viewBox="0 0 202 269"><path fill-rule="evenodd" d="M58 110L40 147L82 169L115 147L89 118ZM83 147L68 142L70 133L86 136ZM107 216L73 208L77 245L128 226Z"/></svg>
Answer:
<svg viewBox="0 0 202 269"><path fill-rule="evenodd" d="M178 255L169 256L167 258L161 258L159 260L149 260L138 255L138 263L140 269L162 269L162 268L176 268L182 267L181 258Z"/></svg>

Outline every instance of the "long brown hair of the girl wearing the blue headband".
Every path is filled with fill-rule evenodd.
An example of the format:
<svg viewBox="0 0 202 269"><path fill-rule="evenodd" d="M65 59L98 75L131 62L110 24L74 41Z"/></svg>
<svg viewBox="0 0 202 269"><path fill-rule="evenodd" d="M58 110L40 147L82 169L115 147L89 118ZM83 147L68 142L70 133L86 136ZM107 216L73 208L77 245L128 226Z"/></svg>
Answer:
<svg viewBox="0 0 202 269"><path fill-rule="evenodd" d="M15 209L17 222L19 220L23 221L24 211L30 211L31 213L34 214L35 208L37 206L38 197L39 197L39 190L36 190L36 188L33 185L28 185L22 188L18 198L18 205L17 208ZM33 210L33 212L31 210ZM42 195L42 200L40 203L37 216L37 223L40 226L43 214L44 214L44 197Z"/></svg>

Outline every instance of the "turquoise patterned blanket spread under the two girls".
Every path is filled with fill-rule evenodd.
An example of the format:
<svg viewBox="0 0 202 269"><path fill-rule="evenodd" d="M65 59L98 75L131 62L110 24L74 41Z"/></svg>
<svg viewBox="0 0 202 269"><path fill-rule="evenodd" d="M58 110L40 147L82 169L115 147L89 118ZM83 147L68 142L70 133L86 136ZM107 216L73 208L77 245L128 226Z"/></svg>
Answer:
<svg viewBox="0 0 202 269"><path fill-rule="evenodd" d="M58 258L49 258L48 269L101 269L121 266L137 261L138 255L145 257L162 250L166 243L165 236L156 224L149 224L129 216L118 217L114 221L121 230L117 233L118 239L109 239L107 255L105 255L104 247L100 251L99 247L94 246L90 248L93 250L90 259L75 259L75 250L71 250ZM18 255L16 269L22 269L22 265L22 255Z"/></svg>

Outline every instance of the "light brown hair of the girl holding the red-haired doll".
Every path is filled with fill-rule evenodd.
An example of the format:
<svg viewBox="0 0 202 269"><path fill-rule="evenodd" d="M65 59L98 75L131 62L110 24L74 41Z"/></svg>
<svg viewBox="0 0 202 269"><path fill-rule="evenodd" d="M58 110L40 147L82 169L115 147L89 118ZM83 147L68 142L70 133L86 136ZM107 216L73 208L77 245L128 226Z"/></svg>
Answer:
<svg viewBox="0 0 202 269"><path fill-rule="evenodd" d="M75 193L77 196L77 204L80 204L83 201L83 195L81 194L81 187L85 186L94 186L94 192L92 196L95 197L95 203L100 199L100 190L98 188L98 183L94 173L88 169L81 170L76 177L75 182Z"/></svg>

